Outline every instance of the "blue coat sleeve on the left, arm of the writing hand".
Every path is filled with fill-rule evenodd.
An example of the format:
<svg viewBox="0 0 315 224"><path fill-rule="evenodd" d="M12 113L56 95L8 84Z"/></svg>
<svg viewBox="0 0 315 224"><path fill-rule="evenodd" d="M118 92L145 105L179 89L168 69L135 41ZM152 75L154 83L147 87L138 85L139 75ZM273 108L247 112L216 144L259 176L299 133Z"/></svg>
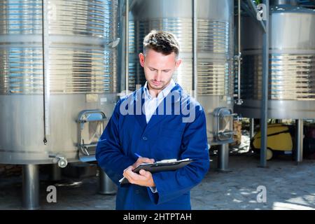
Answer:
<svg viewBox="0 0 315 224"><path fill-rule="evenodd" d="M99 167L109 176L109 178L120 185L119 180L123 178L124 169L133 165L134 160L124 155L119 141L119 112L120 100L115 106L113 115L106 125L106 128L99 139L96 149L96 159Z"/></svg>

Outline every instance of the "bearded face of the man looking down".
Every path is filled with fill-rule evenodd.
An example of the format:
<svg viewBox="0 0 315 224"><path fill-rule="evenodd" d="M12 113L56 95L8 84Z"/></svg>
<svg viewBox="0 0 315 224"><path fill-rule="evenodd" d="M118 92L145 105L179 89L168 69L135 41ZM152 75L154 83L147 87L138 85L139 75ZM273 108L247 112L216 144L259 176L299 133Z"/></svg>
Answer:
<svg viewBox="0 0 315 224"><path fill-rule="evenodd" d="M146 57L139 54L140 64L144 67L144 74L151 90L163 90L171 81L174 71L181 64L181 59L176 60L174 52L163 55L155 50L147 50Z"/></svg>

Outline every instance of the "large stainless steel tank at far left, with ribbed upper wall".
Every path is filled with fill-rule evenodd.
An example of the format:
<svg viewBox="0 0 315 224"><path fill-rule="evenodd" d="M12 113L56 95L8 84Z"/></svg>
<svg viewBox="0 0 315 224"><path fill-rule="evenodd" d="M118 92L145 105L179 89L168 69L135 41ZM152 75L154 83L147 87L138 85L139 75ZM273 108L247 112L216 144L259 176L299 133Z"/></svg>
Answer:
<svg viewBox="0 0 315 224"><path fill-rule="evenodd" d="M92 155L116 102L117 7L1 1L0 163L62 167Z"/></svg>

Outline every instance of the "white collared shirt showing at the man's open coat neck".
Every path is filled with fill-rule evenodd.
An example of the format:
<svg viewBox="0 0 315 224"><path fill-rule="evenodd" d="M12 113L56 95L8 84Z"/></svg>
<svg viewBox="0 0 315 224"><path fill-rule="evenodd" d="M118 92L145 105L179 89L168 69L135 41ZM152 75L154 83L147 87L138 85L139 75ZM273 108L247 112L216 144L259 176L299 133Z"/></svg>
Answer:
<svg viewBox="0 0 315 224"><path fill-rule="evenodd" d="M144 85L144 111L146 113L146 123L150 121L153 114L155 114L156 109L159 104L163 101L167 94L175 87L176 83L173 79L169 82L169 85L165 87L161 92L159 92L157 97L152 97L148 91L148 82Z"/></svg>

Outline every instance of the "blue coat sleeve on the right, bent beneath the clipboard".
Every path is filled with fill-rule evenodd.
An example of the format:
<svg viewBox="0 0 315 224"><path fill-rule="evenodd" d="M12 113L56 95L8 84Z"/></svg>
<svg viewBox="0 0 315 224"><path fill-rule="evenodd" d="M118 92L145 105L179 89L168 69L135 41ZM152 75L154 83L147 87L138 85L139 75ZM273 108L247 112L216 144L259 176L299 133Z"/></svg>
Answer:
<svg viewBox="0 0 315 224"><path fill-rule="evenodd" d="M196 106L193 123L187 123L181 144L181 158L193 159L189 165L173 172L153 173L157 193L148 188L151 201L160 204L188 193L207 174L210 160L207 141L206 117L201 106Z"/></svg>

